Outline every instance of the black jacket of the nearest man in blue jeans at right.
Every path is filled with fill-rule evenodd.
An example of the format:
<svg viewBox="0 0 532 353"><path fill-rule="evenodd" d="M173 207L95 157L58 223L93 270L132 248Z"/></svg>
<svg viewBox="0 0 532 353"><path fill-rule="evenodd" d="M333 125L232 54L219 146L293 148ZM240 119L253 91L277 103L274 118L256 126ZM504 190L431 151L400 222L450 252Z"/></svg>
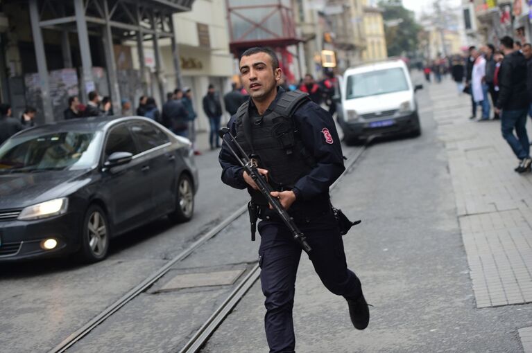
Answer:
<svg viewBox="0 0 532 353"><path fill-rule="evenodd" d="M499 69L499 109L520 110L529 106L526 86L526 59L520 51L504 57Z"/></svg>

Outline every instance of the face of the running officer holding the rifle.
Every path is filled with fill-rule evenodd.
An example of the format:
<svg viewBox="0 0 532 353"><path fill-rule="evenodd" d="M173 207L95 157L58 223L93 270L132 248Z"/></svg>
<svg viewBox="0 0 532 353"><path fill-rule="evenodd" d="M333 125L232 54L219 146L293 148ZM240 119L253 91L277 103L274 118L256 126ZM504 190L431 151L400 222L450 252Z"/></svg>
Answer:
<svg viewBox="0 0 532 353"><path fill-rule="evenodd" d="M242 57L240 73L243 86L251 98L261 100L273 95L281 80L282 70L273 70L271 57L267 53L256 53Z"/></svg>

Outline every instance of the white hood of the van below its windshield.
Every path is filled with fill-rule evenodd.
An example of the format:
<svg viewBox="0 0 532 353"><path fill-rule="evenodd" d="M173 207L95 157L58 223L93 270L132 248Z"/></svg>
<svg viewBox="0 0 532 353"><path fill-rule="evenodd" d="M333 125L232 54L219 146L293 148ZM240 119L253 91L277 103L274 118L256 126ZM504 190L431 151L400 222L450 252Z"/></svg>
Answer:
<svg viewBox="0 0 532 353"><path fill-rule="evenodd" d="M343 107L345 110L355 110L357 114L368 114L375 113L375 111L399 109L402 102L411 99L411 91L400 91L377 96L346 99Z"/></svg>

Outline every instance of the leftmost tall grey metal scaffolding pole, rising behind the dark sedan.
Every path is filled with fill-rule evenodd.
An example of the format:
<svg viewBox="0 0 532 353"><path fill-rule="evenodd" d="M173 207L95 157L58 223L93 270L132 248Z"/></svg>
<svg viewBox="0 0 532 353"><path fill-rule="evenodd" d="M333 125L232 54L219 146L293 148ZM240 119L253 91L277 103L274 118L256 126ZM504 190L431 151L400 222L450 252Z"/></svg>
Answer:
<svg viewBox="0 0 532 353"><path fill-rule="evenodd" d="M39 72L42 108L44 113L44 122L53 122L53 109L50 99L48 84L48 67L46 65L46 55L44 54L44 43L42 41L42 32L39 25L39 8L37 0L30 0L30 19L31 31L33 33L33 43L35 44L35 59L37 60L37 71Z"/></svg>

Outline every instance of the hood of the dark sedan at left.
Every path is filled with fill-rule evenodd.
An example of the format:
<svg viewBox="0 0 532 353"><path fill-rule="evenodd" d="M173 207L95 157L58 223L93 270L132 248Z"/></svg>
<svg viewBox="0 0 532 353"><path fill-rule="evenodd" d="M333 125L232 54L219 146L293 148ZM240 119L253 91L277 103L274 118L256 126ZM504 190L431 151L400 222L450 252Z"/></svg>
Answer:
<svg viewBox="0 0 532 353"><path fill-rule="evenodd" d="M87 170L0 174L0 209L24 208L65 197L80 185Z"/></svg>

